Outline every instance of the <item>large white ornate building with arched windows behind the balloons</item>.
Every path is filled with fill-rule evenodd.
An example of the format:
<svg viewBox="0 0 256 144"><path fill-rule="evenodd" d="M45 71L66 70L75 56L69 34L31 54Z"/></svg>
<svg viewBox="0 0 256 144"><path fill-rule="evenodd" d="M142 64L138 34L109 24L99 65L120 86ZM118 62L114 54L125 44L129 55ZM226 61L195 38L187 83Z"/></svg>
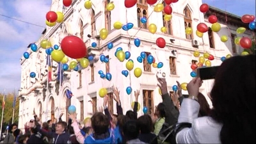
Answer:
<svg viewBox="0 0 256 144"><path fill-rule="evenodd" d="M103 99L99 97L100 88L108 88L109 92L109 110L111 113L116 113L115 100L113 100L112 86L116 86L120 90L120 100L124 112L131 109L131 102L134 100L133 93L127 95L125 89L127 86L132 87L132 91L140 90L139 102L141 107L147 106L148 112L154 111L155 106L161 102L161 97L157 88L156 72L157 69L150 66L147 61L138 63L136 58L140 56L140 52L145 51L147 54L152 54L157 62L163 62L162 72L166 73L166 81L168 89L172 93L172 86L176 81L180 83L188 83L191 80L189 75L191 72L191 64L196 62L193 56L194 51L199 51L202 54L209 52L214 55L215 60L212 65L220 65L222 56L227 54L239 54L243 51L239 46L234 44L236 38L236 29L244 26L240 18L231 13L226 13L216 8L209 8L209 12L201 13L199 7L202 4L201 0L195 1L179 1L172 4L173 13L172 20L165 22L163 20L164 13L156 13L154 7L145 4L145 0L140 0L136 6L125 8L124 0L113 0L115 9L111 12L106 10L106 4L110 1L92 1L92 9L84 8L84 1L74 0L72 7L63 8L62 2L52 1L52 11L62 11L65 14L65 22L56 26L47 27L42 33L42 38L36 42L45 39L51 40L52 44L59 44L63 37L67 35L77 35L84 40L88 47L88 53L94 56L94 60L90 63L90 67L78 72L74 70L65 71L65 81L62 85L56 80L58 64L52 63L52 81L47 84L47 67L46 54L44 49L39 49L38 52L31 53L28 60L22 58L22 79L19 110L19 127L33 118L33 109L42 118L42 121L49 120L53 117L58 117L60 113L64 113L63 119L67 118L67 107L72 104L76 106L78 119L83 120L86 116L91 116L102 106ZM153 13L152 13L153 12ZM120 13L120 15L115 15ZM211 29L204 34L203 38L195 35L195 29L198 23L205 22L207 26L211 24L207 21L209 15L216 15L218 22L221 24L221 31L213 33ZM227 20L226 20L227 16ZM148 17L147 24L140 22L141 17ZM134 28L128 32L122 29L116 30L113 24L120 21L123 24L131 22ZM148 32L149 24L157 25L157 32L152 35ZM161 27L166 26L167 32L161 33ZM191 26L194 29L193 35L186 35L185 29ZM100 40L99 31L106 28L109 31L106 40ZM89 36L87 36L89 35ZM223 43L220 40L221 35L229 36L227 42ZM241 36L250 36L252 33L246 31ZM156 38L163 37L166 40L166 47L160 49L156 45ZM134 45L134 38L140 38L141 45ZM172 39L172 40L170 40ZM172 41L172 42L171 42ZM91 47L92 42L97 42L97 47ZM107 49L109 42L112 42L114 47L111 50ZM128 77L122 76L122 70L126 70L125 61L121 63L115 58L117 47L122 47L124 51L131 52L131 59L134 60L134 68L140 67L143 74L140 78L136 78L131 74ZM109 63L99 61L100 54L108 56ZM112 74L111 81L101 79L98 71L102 70L105 74ZM36 72L36 78L30 78L29 73ZM200 88L200 91L207 95L211 90L212 81L207 81ZM48 86L48 87L47 87ZM49 91L48 91L49 90ZM71 90L74 94L71 100L67 99L65 90ZM186 91L184 91L186 94ZM142 111L138 111L139 115ZM67 120L67 119L66 119Z"/></svg>

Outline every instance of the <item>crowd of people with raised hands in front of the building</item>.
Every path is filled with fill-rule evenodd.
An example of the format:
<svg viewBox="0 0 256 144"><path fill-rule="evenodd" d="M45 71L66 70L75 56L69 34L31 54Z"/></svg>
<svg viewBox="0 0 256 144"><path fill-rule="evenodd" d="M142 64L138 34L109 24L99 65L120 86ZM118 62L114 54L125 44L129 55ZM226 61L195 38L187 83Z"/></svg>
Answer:
<svg viewBox="0 0 256 144"><path fill-rule="evenodd" d="M157 80L163 102L153 115L138 117L138 90L133 109L124 115L120 93L114 88L116 115L109 113L106 95L104 112L86 118L84 127L76 113L69 114L68 122L60 116L58 122L42 123L35 115L25 134L13 124L4 143L255 143L255 55L223 61L209 93L212 108L199 92L200 77L188 83L188 97L182 95L179 82L170 97L166 80Z"/></svg>

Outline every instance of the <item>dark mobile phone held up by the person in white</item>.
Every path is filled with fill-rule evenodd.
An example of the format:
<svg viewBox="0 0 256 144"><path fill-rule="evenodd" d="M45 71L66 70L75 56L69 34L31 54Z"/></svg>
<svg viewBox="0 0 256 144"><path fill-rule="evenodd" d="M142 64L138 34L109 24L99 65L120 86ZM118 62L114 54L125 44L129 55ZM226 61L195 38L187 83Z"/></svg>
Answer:
<svg viewBox="0 0 256 144"><path fill-rule="evenodd" d="M200 77L202 80L215 79L216 73L220 66L214 67L200 67L196 69L197 77Z"/></svg>

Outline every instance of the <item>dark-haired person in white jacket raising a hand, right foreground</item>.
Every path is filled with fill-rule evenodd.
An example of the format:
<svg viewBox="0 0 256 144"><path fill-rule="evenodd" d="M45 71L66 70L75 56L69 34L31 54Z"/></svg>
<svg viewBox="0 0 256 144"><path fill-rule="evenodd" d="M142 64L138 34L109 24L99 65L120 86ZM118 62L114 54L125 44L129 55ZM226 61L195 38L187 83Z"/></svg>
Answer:
<svg viewBox="0 0 256 144"><path fill-rule="evenodd" d="M211 90L210 116L198 118L201 84L199 77L188 83L178 122L192 127L177 133L177 143L255 143L255 55L223 61Z"/></svg>

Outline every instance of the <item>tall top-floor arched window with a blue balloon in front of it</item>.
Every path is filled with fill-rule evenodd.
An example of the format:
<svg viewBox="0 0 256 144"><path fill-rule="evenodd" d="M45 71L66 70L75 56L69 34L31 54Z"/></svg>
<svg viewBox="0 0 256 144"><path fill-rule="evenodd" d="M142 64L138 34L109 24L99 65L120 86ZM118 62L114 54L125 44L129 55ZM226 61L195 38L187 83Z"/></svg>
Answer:
<svg viewBox="0 0 256 144"><path fill-rule="evenodd" d="M143 24L140 21L142 17L147 18L147 16L148 16L148 4L146 3L146 0L138 0L138 3L137 3L138 28L147 29L148 22Z"/></svg>

